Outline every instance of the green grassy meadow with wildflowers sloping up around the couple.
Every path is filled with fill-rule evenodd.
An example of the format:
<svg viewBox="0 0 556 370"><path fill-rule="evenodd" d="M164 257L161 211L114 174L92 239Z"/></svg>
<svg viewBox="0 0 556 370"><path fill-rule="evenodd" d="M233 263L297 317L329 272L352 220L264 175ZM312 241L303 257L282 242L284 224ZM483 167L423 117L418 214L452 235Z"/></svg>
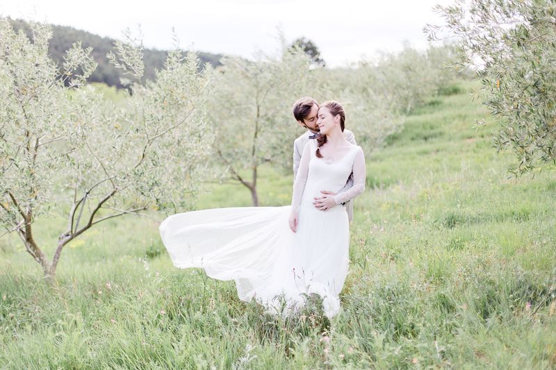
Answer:
<svg viewBox="0 0 556 370"><path fill-rule="evenodd" d="M270 317L233 283L174 269L149 219L76 239L56 287L2 237L0 368L554 369L556 167L508 178L512 153L491 147L496 124L473 128L482 118L464 92L436 97L366 158L332 321L317 303ZM291 176L264 169L259 196L288 204ZM250 193L228 184L197 207L237 205ZM51 255L65 223L37 226Z"/></svg>

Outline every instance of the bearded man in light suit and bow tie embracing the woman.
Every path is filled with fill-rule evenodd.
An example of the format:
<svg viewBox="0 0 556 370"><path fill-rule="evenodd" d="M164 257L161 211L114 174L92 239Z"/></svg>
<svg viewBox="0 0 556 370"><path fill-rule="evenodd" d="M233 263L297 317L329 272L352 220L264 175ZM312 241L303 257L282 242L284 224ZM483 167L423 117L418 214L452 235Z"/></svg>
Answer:
<svg viewBox="0 0 556 370"><path fill-rule="evenodd" d="M318 133L318 126L317 126L317 112L318 112L318 103L315 99L311 98L310 96L305 96L304 98L299 99L293 105L293 117L295 120L304 128L307 129L307 132L297 137L293 142L293 180L295 181L295 176L297 176L297 169L300 167L300 160L301 160L301 153L303 153L303 148L305 144L309 142L309 140L314 140L316 134ZM344 130L343 135L345 140L348 142L357 145L355 143L355 137L353 133L349 130ZM345 186L338 192L345 192L345 190L349 189L353 186L353 173L347 179L347 183ZM329 195L336 195L336 193L328 192L325 190L320 191L322 194L329 194ZM322 199L317 198L316 200ZM343 203L345 205L345 210L347 211L347 217L351 221L353 221L353 203L352 201L347 201ZM318 208L317 205L315 205Z"/></svg>

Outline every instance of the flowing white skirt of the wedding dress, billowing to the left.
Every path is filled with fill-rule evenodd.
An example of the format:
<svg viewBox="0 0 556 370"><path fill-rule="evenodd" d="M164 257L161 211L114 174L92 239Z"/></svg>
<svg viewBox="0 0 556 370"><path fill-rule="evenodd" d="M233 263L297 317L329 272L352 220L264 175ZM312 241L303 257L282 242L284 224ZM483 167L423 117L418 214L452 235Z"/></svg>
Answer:
<svg viewBox="0 0 556 370"><path fill-rule="evenodd" d="M160 226L174 266L200 267L234 280L243 301L255 299L276 314L300 308L313 293L325 314L340 309L347 274L349 222L341 205L322 212L300 208L297 233L290 206L215 208L172 215ZM284 310L286 308L286 310Z"/></svg>

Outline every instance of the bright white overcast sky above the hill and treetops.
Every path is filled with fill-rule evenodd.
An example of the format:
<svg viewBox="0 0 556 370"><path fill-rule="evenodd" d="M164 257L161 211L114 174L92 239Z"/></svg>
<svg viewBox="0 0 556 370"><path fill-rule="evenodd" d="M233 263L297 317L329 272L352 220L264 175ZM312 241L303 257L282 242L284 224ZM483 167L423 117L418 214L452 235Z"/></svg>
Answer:
<svg viewBox="0 0 556 370"><path fill-rule="evenodd" d="M82 5L82 4L85 5ZM73 26L122 38L140 24L147 48L172 49L172 26L183 49L250 57L277 50L277 27L286 40L308 37L329 67L348 65L402 42L427 47L423 26L442 24L432 11L452 0L1 0L0 15Z"/></svg>

